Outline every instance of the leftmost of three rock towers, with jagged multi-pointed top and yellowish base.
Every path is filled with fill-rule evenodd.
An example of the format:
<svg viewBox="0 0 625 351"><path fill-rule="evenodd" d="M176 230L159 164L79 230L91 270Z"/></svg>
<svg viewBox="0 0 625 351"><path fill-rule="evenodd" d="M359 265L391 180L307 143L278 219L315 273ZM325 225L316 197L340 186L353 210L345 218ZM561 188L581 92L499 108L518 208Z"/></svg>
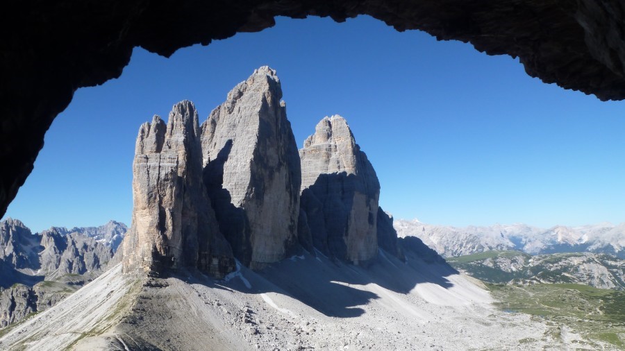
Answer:
<svg viewBox="0 0 625 351"><path fill-rule="evenodd" d="M133 224L124 239L124 272L198 267L214 276L233 269L202 183L197 112L174 105L167 126L155 116L139 129L133 162Z"/></svg>

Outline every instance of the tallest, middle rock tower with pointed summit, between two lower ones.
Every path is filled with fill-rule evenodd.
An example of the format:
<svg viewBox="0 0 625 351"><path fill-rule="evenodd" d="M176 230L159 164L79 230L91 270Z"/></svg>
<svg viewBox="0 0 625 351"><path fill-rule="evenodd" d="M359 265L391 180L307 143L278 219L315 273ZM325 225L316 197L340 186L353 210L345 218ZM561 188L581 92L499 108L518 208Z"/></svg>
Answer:
<svg viewBox="0 0 625 351"><path fill-rule="evenodd" d="M283 259L297 239L301 171L276 71L260 67L202 124L204 181L235 257Z"/></svg>

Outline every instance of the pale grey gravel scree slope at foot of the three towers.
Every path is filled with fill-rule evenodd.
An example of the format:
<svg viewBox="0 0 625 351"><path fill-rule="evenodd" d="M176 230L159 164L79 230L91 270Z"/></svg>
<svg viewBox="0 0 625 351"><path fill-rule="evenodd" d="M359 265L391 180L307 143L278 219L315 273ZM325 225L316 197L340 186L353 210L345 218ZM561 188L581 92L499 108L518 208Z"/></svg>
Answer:
<svg viewBox="0 0 625 351"><path fill-rule="evenodd" d="M76 339L72 348L78 350L567 347L558 327L494 309L490 294L478 285L445 264L426 264L410 254L404 264L383 252L368 268L306 254L260 273L242 267L226 280L189 273L144 280L135 284L139 289L132 289L116 266L12 329L0 339L0 348L60 350ZM124 317L116 319L110 312L115 301L127 300L132 308L118 308ZM108 327L102 320L119 323ZM89 330L101 334L90 336ZM63 341L51 342L57 335Z"/></svg>

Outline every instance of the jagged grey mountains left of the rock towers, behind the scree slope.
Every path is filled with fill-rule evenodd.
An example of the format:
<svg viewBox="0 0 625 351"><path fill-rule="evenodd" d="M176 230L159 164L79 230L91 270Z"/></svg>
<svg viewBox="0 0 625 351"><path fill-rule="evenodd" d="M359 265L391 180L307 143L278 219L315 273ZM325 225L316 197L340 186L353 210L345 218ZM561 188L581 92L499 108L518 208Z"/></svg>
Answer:
<svg viewBox="0 0 625 351"><path fill-rule="evenodd" d="M33 234L17 219L0 222L0 327L63 300L106 270L126 225L52 227Z"/></svg>

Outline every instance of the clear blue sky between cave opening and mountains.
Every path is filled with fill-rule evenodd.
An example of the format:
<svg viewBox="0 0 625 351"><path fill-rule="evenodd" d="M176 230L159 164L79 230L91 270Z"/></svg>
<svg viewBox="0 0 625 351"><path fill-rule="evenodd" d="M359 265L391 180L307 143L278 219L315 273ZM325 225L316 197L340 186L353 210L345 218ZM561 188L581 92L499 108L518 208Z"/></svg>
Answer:
<svg viewBox="0 0 625 351"><path fill-rule="evenodd" d="M165 59L135 49L117 80L80 89L46 135L6 216L51 225L130 225L141 123L190 99L201 121L257 67L281 78L301 147L341 114L396 218L543 227L625 221L625 103L545 85L518 60L397 33L369 17L277 19Z"/></svg>

